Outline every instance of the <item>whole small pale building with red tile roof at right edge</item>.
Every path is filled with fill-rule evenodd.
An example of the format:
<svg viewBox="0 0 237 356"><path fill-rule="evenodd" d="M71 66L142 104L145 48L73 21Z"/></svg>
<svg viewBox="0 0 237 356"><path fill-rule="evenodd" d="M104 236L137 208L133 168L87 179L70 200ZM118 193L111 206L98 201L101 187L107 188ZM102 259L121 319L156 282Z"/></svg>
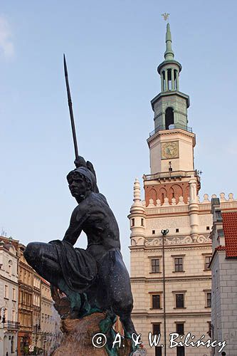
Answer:
<svg viewBox="0 0 237 356"><path fill-rule="evenodd" d="M211 199L214 226L211 231L212 307L211 337L226 341L225 355L237 355L237 206L221 209L219 199ZM218 348L212 355L218 355Z"/></svg>

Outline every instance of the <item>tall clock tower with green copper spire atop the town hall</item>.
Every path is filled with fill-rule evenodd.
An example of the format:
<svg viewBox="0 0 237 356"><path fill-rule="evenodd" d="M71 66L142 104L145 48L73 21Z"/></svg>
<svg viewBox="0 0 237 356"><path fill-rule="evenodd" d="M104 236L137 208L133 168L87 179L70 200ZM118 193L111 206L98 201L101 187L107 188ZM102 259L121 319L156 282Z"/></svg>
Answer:
<svg viewBox="0 0 237 356"><path fill-rule="evenodd" d="M199 176L194 170L196 137L188 126L189 95L179 91L181 64L174 60L169 23L164 61L157 71L161 92L151 102L154 131L147 140L151 174L144 175L145 200L147 205L152 200L154 205L177 204L182 197L187 203L190 179L195 183L195 194L200 189Z"/></svg>

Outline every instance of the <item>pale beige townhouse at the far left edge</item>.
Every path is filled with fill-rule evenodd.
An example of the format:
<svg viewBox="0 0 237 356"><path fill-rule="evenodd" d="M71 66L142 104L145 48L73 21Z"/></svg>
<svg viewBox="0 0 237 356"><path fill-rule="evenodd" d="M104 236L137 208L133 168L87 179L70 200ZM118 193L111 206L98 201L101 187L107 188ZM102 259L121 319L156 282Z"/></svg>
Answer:
<svg viewBox="0 0 237 356"><path fill-rule="evenodd" d="M0 355L16 356L18 319L18 257L12 239L0 236Z"/></svg>

